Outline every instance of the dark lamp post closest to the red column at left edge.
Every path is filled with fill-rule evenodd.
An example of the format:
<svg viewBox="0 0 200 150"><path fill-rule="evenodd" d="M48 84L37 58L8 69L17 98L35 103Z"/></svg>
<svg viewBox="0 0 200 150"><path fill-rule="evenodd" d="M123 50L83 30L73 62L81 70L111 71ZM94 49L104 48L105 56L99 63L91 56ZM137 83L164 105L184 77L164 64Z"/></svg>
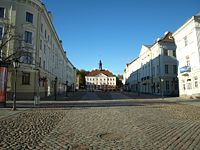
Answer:
<svg viewBox="0 0 200 150"><path fill-rule="evenodd" d="M13 67L14 67L14 93L13 93L13 108L12 110L16 110L16 85L17 85L17 68L19 68L19 60L13 61Z"/></svg>

